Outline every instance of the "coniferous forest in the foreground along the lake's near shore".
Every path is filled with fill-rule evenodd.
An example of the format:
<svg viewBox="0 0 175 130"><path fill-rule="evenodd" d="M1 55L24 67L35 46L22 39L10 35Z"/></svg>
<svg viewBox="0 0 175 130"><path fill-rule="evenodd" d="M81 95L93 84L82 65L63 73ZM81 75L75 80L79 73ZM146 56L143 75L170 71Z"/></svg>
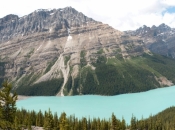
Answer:
<svg viewBox="0 0 175 130"><path fill-rule="evenodd" d="M16 108L17 94L11 94L12 85L5 81L0 91L0 130L32 130L43 127L45 130L174 130L175 107L170 107L157 115L138 120L132 116L130 124L125 119L117 119L111 113L110 119L76 118L63 113L52 113L49 109L39 111L19 110ZM59 108L58 108L59 109Z"/></svg>

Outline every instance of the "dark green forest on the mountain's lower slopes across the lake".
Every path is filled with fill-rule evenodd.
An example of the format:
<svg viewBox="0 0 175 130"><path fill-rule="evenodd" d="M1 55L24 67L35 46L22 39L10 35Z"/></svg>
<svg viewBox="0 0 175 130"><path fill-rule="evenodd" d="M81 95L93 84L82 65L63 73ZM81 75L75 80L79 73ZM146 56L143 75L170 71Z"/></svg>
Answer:
<svg viewBox="0 0 175 130"><path fill-rule="evenodd" d="M65 95L117 95L166 87L160 85L160 77L167 77L175 83L175 60L165 56L143 54L123 59L121 55L106 58L99 54L97 60L91 63L94 70L86 66L85 54L86 52L81 52L82 63L78 77L73 78L71 74L68 77ZM22 95L55 95L64 80L52 79L33 84L39 76L40 74L33 76L31 73L23 77L16 91Z"/></svg>

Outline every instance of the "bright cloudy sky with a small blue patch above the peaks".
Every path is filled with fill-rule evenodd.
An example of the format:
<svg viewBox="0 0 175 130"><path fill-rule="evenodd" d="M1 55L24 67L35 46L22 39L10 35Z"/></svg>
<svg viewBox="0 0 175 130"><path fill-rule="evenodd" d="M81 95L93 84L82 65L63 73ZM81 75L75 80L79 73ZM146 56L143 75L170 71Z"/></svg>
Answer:
<svg viewBox="0 0 175 130"><path fill-rule="evenodd" d="M120 31L161 23L175 28L175 0L1 0L0 18L67 6Z"/></svg>

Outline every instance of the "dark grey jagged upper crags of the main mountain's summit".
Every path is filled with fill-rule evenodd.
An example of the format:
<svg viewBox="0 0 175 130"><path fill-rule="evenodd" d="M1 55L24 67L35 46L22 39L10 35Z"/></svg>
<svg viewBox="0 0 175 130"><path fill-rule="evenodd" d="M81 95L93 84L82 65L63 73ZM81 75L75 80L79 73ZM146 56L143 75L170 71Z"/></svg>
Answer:
<svg viewBox="0 0 175 130"><path fill-rule="evenodd" d="M40 9L21 18L7 15L0 19L0 41L5 42L37 32L53 33L61 29L85 26L88 22L98 23L71 7L57 10ZM67 36L66 33L62 35Z"/></svg>

